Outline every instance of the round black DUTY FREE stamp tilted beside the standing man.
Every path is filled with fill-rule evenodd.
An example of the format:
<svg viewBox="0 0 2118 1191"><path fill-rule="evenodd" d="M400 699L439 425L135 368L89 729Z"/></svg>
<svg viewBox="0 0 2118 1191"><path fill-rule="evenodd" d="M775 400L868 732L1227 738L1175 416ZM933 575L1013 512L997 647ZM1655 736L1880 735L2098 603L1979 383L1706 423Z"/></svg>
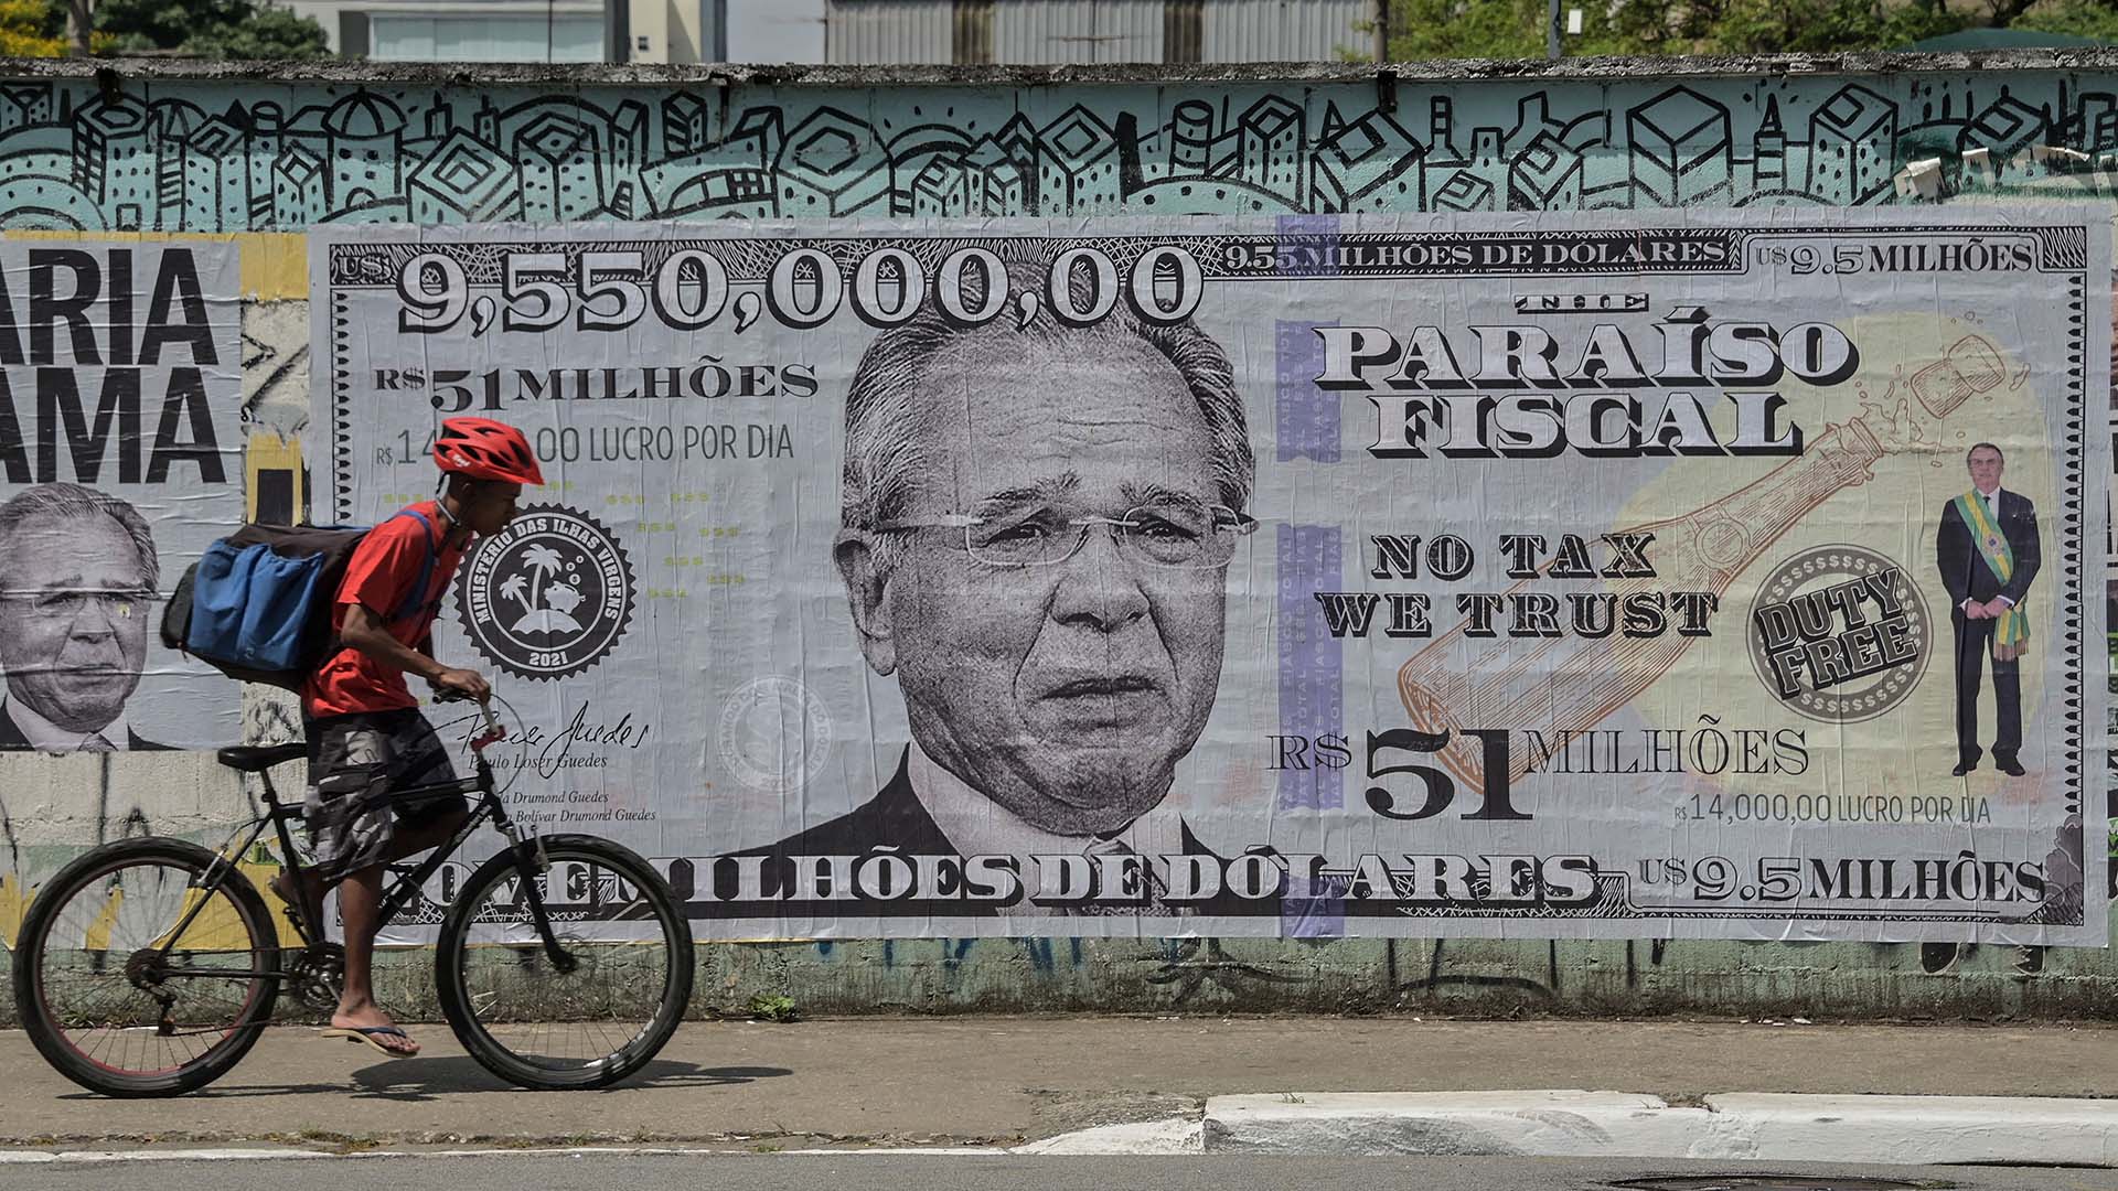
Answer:
<svg viewBox="0 0 2118 1191"><path fill-rule="evenodd" d="M1779 564L1749 606L1749 663L1788 708L1824 723L1902 704L1934 655L1934 619L1910 574L1853 545Z"/></svg>

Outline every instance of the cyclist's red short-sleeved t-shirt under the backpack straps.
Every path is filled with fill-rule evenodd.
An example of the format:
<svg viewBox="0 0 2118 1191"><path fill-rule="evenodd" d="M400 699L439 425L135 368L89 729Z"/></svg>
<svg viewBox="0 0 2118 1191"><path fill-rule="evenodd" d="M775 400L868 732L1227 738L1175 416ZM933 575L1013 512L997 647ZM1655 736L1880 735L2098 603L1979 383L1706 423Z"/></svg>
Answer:
<svg viewBox="0 0 2118 1191"><path fill-rule="evenodd" d="M375 612L383 621L383 627L390 629L390 636L400 642L419 648L419 642L426 640L428 629L434 625L434 612L428 612L428 606L438 610L441 593L455 579L455 566L464 562L464 551L445 545L449 519L441 515L436 502L424 500L413 504L411 511L424 513L432 530L413 517L392 517L375 526L354 547L354 557L345 564L345 581L339 585L339 600L330 610L333 632L345 627L345 608L360 604ZM419 600L419 610L402 621L392 621L390 617L405 608L413 585L419 583L419 572L428 559L428 543L434 543L432 549L436 551L434 576ZM309 718L392 712L415 706L419 701L405 687L405 672L375 661L358 648L341 648L330 655L301 693L301 708Z"/></svg>

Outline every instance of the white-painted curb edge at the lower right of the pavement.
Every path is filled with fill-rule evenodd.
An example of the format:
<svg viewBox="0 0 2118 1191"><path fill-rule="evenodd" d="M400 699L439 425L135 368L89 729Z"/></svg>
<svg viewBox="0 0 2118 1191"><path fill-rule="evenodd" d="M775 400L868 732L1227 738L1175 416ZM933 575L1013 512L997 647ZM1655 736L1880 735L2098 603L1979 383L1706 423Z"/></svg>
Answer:
<svg viewBox="0 0 2118 1191"><path fill-rule="evenodd" d="M1999 1096L1216 1096L1205 1153L2118 1166L2118 1102ZM1057 1138L1055 1138L1057 1140Z"/></svg>

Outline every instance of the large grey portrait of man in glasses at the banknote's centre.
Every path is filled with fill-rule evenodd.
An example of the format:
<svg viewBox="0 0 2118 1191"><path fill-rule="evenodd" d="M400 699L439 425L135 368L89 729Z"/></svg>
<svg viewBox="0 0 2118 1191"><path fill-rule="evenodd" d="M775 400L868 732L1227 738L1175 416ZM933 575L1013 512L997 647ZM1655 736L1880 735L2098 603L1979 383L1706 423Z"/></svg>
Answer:
<svg viewBox="0 0 2118 1191"><path fill-rule="evenodd" d="M845 426L832 555L913 740L870 801L767 852L1199 852L1165 799L1256 528L1226 352L1123 303L1091 326L928 307L866 350Z"/></svg>

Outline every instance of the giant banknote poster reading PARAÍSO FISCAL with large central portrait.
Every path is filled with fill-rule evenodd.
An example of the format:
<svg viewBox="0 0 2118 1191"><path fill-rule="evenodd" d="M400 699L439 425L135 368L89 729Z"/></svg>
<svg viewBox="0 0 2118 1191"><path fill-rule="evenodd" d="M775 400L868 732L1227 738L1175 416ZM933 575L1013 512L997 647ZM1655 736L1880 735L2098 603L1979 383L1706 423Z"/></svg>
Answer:
<svg viewBox="0 0 2118 1191"><path fill-rule="evenodd" d="M2105 214L311 269L330 513L428 496L447 415L530 434L436 648L510 807L705 937L2105 941Z"/></svg>

